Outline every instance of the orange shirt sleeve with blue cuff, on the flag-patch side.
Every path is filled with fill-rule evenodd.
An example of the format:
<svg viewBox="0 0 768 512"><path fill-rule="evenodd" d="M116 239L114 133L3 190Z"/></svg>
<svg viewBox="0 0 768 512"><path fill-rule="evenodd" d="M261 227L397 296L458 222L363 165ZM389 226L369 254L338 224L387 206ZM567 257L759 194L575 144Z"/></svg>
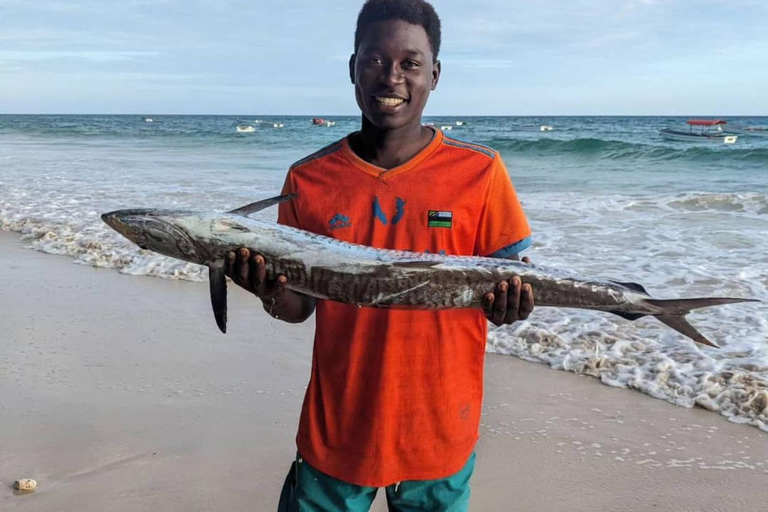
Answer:
<svg viewBox="0 0 768 512"><path fill-rule="evenodd" d="M497 153L480 214L475 254L508 258L531 245L531 228L517 200L507 168Z"/></svg>

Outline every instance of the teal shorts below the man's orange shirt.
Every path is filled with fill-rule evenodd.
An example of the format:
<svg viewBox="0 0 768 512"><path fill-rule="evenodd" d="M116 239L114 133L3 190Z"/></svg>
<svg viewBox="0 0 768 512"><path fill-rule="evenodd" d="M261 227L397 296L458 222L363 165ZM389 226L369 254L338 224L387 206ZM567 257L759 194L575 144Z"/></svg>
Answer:
<svg viewBox="0 0 768 512"><path fill-rule="evenodd" d="M409 480L385 487L390 512L465 512L475 454L458 473L438 480ZM291 465L278 512L367 512L376 487L342 482L313 468L301 456Z"/></svg>

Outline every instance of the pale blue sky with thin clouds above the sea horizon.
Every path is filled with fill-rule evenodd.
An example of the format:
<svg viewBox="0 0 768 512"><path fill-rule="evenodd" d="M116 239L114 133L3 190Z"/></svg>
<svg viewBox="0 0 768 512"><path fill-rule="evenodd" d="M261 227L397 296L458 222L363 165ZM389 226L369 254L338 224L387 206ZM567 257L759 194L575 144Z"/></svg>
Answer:
<svg viewBox="0 0 768 512"><path fill-rule="evenodd" d="M434 0L427 115L768 115L768 0ZM0 113L356 115L361 0L0 0Z"/></svg>

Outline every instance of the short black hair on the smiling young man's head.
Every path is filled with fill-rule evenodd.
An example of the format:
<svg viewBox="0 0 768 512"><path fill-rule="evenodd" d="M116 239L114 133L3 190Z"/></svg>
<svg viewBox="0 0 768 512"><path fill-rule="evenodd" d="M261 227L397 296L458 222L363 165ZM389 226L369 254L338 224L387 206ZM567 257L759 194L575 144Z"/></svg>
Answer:
<svg viewBox="0 0 768 512"><path fill-rule="evenodd" d="M403 20L421 25L429 38L432 56L437 60L440 52L440 18L432 4L425 0L368 0L357 16L355 53L363 39L365 29L379 21Z"/></svg>

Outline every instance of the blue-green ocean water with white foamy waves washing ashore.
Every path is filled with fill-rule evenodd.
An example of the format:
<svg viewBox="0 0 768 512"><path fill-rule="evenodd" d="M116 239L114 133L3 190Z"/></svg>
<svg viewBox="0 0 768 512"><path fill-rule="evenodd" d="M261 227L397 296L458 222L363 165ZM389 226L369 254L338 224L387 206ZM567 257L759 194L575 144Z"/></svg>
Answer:
<svg viewBox="0 0 768 512"><path fill-rule="evenodd" d="M206 269L139 250L99 215L128 207L224 211L275 195L292 162L359 125L353 117L330 118L330 127L313 126L309 117L153 119L0 116L0 229L76 263L204 280ZM725 145L659 137L660 128L684 120L425 122L501 152L534 231L526 251L534 262L635 281L658 298L763 301L689 316L719 350L696 346L655 319L538 308L528 321L492 329L489 352L768 430L768 138ZM768 125L768 118L729 121ZM243 123L255 131L238 133ZM274 219L276 210L259 215Z"/></svg>

